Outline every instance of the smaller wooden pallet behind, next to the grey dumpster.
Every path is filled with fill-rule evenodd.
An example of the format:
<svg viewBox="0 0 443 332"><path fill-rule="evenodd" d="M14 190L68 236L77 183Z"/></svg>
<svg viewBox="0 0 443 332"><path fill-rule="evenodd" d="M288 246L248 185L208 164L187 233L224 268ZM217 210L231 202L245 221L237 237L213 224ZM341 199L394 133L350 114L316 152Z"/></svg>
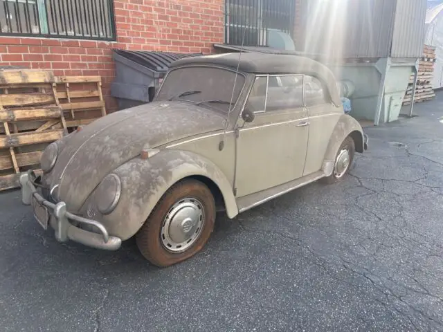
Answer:
<svg viewBox="0 0 443 332"><path fill-rule="evenodd" d="M69 128L106 116L100 76L57 77L57 100Z"/></svg>

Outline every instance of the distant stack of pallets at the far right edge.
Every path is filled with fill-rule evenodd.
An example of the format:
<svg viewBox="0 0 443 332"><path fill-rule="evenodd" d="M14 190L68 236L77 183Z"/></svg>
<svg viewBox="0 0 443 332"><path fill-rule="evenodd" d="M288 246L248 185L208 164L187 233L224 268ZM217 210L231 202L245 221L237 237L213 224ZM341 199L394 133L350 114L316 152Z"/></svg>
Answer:
<svg viewBox="0 0 443 332"><path fill-rule="evenodd" d="M415 87L414 102L425 102L435 98L435 93L432 88L432 80L434 75L435 63L435 47L424 46L423 57L420 58L419 69L417 75L417 85ZM414 75L410 76L408 89L404 97L403 104L409 105L413 93Z"/></svg>

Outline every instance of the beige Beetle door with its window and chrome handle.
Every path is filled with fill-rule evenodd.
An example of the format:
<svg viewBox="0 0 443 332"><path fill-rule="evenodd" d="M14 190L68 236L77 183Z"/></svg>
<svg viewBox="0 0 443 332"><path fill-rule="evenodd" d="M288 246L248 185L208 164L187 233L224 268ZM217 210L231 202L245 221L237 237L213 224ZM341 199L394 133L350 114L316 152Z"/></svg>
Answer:
<svg viewBox="0 0 443 332"><path fill-rule="evenodd" d="M255 118L244 122L239 117L237 123L237 197L302 176L309 134L302 80L302 75L256 77L245 106Z"/></svg>

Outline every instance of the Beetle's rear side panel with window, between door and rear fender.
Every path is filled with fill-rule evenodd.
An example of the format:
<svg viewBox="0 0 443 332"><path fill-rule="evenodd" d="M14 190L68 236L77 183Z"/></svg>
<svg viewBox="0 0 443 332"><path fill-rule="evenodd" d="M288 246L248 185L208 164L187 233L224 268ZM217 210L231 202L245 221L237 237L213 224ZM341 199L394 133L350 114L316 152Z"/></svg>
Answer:
<svg viewBox="0 0 443 332"><path fill-rule="evenodd" d="M317 77L305 76L304 83L309 116L309 143L303 175L307 176L323 166L327 145L343 110L332 104L325 84Z"/></svg>

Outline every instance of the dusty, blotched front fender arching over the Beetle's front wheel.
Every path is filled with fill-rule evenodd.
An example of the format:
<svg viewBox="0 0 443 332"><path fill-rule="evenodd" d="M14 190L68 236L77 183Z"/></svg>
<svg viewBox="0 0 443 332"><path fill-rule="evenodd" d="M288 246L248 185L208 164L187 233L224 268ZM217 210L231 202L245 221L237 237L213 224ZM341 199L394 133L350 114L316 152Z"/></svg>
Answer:
<svg viewBox="0 0 443 332"><path fill-rule="evenodd" d="M210 160L190 151L161 150L148 159L139 156L118 167L113 173L120 177L122 192L114 212L102 221L110 234L129 239L145 223L161 196L174 183L188 176L210 178L224 198L226 214L238 214L232 186L221 170Z"/></svg>

